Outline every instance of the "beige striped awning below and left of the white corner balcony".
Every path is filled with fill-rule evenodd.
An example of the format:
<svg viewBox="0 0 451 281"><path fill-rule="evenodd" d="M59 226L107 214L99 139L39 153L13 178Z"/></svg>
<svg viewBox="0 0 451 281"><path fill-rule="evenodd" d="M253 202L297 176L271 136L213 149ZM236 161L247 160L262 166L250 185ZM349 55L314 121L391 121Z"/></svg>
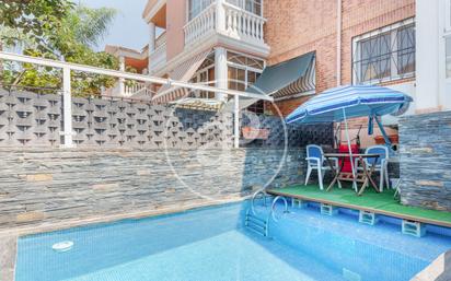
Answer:
<svg viewBox="0 0 451 281"><path fill-rule="evenodd" d="M194 57L182 62L173 71L169 73L169 78L176 81L188 82L196 73L197 69L204 62L204 60L211 54L211 49L199 52ZM183 96L187 96L188 90L177 86L162 85L157 92L155 103L169 103L176 101Z"/></svg>

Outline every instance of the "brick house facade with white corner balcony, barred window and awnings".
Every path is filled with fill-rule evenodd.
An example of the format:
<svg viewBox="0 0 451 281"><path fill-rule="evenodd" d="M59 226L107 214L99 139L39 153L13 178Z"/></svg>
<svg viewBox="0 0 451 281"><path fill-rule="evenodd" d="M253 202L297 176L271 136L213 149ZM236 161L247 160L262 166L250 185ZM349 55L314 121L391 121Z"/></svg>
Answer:
<svg viewBox="0 0 451 281"><path fill-rule="evenodd" d="M142 13L149 25L147 70L270 94L284 115L343 84L405 92L415 101L407 114L451 109L450 7L451 0L149 0ZM169 86L150 92L163 104L186 96L228 104L216 93ZM267 103L240 105L275 114ZM350 128L365 124L356 119Z"/></svg>

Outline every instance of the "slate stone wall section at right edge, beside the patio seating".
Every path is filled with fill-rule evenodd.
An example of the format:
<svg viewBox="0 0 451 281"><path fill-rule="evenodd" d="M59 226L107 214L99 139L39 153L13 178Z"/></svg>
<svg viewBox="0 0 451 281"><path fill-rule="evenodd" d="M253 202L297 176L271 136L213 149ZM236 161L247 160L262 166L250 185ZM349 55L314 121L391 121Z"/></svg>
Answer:
<svg viewBox="0 0 451 281"><path fill-rule="evenodd" d="M451 112L400 120L401 201L451 211Z"/></svg>

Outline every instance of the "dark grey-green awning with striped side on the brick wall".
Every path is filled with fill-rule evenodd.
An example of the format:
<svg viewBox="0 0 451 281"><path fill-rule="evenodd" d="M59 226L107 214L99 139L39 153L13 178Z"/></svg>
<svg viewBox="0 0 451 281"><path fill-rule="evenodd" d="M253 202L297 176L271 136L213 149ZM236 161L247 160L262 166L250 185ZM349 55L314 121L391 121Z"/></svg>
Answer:
<svg viewBox="0 0 451 281"><path fill-rule="evenodd" d="M266 67L246 92L271 95L275 101L314 92L315 52Z"/></svg>

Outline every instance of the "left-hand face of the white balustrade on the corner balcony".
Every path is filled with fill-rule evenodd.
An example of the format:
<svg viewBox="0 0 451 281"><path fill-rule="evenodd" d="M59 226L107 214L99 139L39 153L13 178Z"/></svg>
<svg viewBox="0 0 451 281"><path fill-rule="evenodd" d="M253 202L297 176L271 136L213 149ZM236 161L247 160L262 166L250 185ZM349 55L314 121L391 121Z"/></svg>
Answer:
<svg viewBox="0 0 451 281"><path fill-rule="evenodd" d="M185 33L185 45L189 45L208 33L215 32L216 7L216 2L211 3L183 27Z"/></svg>

